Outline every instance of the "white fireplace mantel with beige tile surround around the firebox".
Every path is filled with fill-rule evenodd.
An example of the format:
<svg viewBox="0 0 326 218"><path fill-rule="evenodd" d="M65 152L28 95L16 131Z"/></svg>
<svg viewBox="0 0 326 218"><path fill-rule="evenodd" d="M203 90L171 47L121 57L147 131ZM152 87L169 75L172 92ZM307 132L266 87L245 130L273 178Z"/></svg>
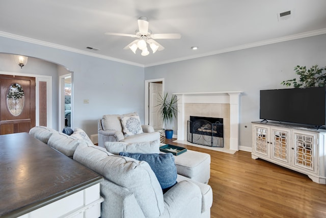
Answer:
<svg viewBox="0 0 326 218"><path fill-rule="evenodd" d="M238 151L241 91L174 94L178 98L178 140L187 140L187 120L191 115L223 118L224 148Z"/></svg>

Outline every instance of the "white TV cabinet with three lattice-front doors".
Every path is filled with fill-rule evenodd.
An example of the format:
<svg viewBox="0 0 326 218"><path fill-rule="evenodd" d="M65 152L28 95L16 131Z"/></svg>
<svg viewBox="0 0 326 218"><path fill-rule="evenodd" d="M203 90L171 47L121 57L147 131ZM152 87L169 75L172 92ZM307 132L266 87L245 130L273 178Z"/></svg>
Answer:
<svg viewBox="0 0 326 218"><path fill-rule="evenodd" d="M253 159L284 166L326 184L326 131L280 123L252 122Z"/></svg>

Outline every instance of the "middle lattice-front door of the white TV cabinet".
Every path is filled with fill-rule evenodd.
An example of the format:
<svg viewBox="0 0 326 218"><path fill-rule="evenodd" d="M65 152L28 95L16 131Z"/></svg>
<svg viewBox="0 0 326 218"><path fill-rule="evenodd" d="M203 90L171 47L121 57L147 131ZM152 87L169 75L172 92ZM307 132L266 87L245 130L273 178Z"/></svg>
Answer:
<svg viewBox="0 0 326 218"><path fill-rule="evenodd" d="M289 164L291 161L290 130L271 128L271 158Z"/></svg>

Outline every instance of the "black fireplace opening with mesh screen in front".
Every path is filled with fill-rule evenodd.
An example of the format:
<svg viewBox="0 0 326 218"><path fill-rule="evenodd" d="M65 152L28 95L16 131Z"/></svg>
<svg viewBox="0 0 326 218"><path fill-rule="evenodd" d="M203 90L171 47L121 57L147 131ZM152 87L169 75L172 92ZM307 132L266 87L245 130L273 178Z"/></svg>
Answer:
<svg viewBox="0 0 326 218"><path fill-rule="evenodd" d="M187 141L210 147L224 147L223 118L190 116Z"/></svg>

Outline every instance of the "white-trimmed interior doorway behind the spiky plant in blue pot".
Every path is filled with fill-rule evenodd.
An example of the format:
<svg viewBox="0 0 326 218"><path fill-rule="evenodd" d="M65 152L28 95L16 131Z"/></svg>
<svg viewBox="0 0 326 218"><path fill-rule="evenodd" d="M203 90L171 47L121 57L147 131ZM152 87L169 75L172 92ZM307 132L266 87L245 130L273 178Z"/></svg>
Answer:
<svg viewBox="0 0 326 218"><path fill-rule="evenodd" d="M161 129L160 114L158 113L159 95L164 93L164 79L145 81L145 124Z"/></svg>

